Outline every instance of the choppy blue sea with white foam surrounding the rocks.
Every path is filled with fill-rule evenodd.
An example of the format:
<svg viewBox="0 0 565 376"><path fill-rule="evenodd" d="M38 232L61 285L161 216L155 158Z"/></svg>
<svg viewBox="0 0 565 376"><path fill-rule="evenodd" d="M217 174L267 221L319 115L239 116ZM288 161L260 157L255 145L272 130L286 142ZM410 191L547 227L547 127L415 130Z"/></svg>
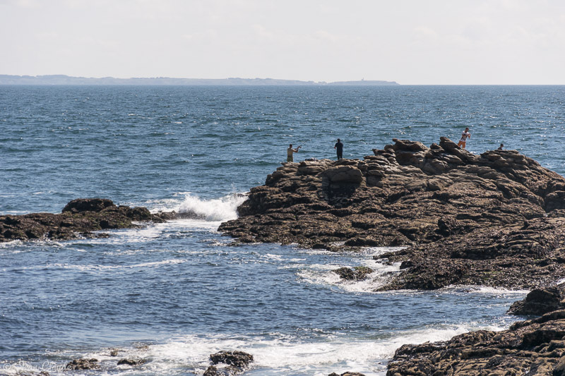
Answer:
<svg viewBox="0 0 565 376"><path fill-rule="evenodd" d="M402 344L506 329L527 291L376 293L398 272L373 260L388 248L232 246L217 231L290 143L295 161L335 158L337 138L362 159L465 127L470 152L504 143L565 174L564 86L0 86L0 214L100 197L206 218L0 243L0 374L97 358L101 370L73 375L203 375L211 353L239 350L250 376L384 375ZM370 279L332 272L359 265Z"/></svg>

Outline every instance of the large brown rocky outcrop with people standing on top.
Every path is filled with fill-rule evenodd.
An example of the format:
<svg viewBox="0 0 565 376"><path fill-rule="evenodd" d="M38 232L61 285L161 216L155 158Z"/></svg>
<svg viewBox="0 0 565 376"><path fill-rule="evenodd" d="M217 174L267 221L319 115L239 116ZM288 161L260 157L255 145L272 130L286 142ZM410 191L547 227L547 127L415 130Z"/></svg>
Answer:
<svg viewBox="0 0 565 376"><path fill-rule="evenodd" d="M565 178L513 150L393 141L363 160L283 163L219 230L240 243L407 247L379 256L402 265L383 290L565 277Z"/></svg>

